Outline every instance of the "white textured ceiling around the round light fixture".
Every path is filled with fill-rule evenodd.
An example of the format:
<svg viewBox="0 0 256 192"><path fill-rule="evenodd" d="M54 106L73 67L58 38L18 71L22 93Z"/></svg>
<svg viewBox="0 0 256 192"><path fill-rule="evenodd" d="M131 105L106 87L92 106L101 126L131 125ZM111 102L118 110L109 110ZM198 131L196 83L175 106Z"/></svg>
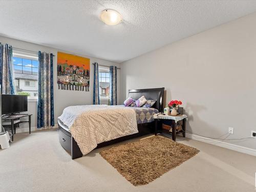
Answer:
<svg viewBox="0 0 256 192"><path fill-rule="evenodd" d="M99 20L104 9L123 16ZM0 1L0 35L122 62L256 11L256 1Z"/></svg>

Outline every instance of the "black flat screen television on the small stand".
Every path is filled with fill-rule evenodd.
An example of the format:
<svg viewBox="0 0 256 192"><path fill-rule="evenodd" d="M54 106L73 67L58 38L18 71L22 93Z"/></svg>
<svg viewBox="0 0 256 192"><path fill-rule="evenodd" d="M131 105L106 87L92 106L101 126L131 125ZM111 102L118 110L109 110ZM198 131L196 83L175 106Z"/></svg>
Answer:
<svg viewBox="0 0 256 192"><path fill-rule="evenodd" d="M28 111L28 96L2 95L2 114Z"/></svg>

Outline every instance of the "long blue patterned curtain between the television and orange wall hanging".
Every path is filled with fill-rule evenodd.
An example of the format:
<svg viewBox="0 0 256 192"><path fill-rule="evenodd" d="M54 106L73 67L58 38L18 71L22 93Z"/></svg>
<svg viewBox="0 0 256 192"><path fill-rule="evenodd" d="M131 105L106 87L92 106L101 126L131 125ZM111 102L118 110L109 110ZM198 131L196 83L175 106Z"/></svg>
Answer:
<svg viewBox="0 0 256 192"><path fill-rule="evenodd" d="M37 128L54 126L53 54L38 52Z"/></svg>

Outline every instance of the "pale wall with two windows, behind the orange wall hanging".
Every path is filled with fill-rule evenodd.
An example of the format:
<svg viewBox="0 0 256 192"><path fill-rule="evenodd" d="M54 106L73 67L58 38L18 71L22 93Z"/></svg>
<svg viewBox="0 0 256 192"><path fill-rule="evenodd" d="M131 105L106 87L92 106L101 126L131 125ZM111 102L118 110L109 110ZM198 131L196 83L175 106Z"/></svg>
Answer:
<svg viewBox="0 0 256 192"><path fill-rule="evenodd" d="M32 44L30 42L25 42L17 39L7 38L0 36L0 42L9 44L16 48L31 50L31 51L42 51L47 53L53 53L55 57L53 57L53 86L54 86L54 119L55 124L57 124L57 118L61 115L64 108L70 105L81 105L81 104L92 104L93 103L93 64L94 62L98 62L99 65L105 65L105 66L117 66L119 67L119 63L99 59L95 57L89 57L86 55L78 55L90 58L91 66L90 66L90 91L84 92L84 91L69 91L69 90L59 90L57 85L57 52L65 52L62 50L57 50L50 47L45 47L37 44ZM71 53L74 54L74 53ZM117 76L119 79L119 74ZM119 80L117 81L117 95L119 96ZM119 102L119 97L117 98ZM29 102L28 103L28 112L33 114L32 116L32 127L36 126L36 119L37 119L37 102ZM23 125L23 127L28 127L28 125Z"/></svg>

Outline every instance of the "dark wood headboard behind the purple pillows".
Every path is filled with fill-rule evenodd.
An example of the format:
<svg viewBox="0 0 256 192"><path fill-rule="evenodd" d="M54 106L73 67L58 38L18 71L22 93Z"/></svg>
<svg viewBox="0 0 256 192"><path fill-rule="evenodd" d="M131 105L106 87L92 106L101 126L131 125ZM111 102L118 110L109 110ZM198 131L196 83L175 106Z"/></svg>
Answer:
<svg viewBox="0 0 256 192"><path fill-rule="evenodd" d="M152 107L157 109L159 112L162 112L163 111L163 93L164 93L164 88L133 89L133 90L128 90L127 98L132 97L133 99L137 100L142 95L144 95L146 99L157 100Z"/></svg>

